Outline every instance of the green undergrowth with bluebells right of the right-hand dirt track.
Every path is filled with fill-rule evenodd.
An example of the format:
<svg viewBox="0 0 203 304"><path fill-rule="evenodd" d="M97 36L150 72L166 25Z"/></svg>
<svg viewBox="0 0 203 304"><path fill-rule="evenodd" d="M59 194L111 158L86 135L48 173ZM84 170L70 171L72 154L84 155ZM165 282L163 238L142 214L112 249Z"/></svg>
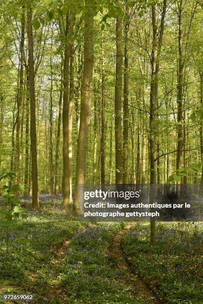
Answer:
<svg viewBox="0 0 203 304"><path fill-rule="evenodd" d="M203 303L203 223L158 223L157 241L140 223L123 236L123 250L137 272L169 304Z"/></svg>

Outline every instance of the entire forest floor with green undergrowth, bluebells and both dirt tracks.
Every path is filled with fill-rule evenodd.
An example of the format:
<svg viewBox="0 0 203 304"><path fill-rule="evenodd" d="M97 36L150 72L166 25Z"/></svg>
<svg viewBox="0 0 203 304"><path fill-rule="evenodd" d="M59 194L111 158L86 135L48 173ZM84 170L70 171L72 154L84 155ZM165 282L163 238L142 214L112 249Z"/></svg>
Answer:
<svg viewBox="0 0 203 304"><path fill-rule="evenodd" d="M0 232L0 294L34 294L32 303L50 304L203 303L202 223L159 223L151 246L148 223L93 225L68 219L60 200L41 210L29 204L7 255Z"/></svg>

